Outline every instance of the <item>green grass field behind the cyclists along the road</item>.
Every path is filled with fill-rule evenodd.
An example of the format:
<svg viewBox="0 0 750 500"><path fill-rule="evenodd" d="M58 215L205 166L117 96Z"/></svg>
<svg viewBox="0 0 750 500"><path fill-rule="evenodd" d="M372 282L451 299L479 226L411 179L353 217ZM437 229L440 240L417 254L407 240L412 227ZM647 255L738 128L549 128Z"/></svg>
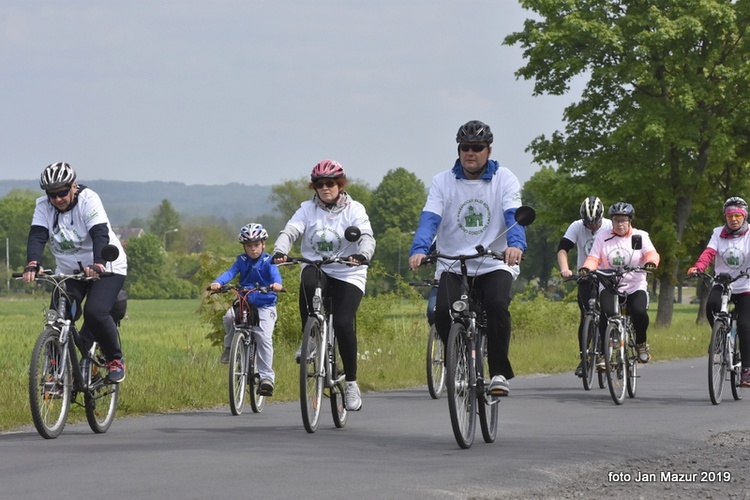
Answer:
<svg viewBox="0 0 750 500"><path fill-rule="evenodd" d="M31 423L28 365L48 298L0 300L0 430ZM120 392L118 416L164 413L228 405L227 365L220 348L205 337L209 326L197 314L197 300L131 300L121 336L127 380ZM425 385L427 322L423 300L366 298L358 314L358 379L363 390ZM578 364L575 304L538 299L512 305L511 360L517 375L572 371ZM652 311L654 313L654 311ZM649 328L655 360L703 356L706 325L696 326L697 306L676 306L670 328ZM275 336L274 401L294 401L298 393L298 319L293 331ZM280 322L281 323L281 322ZM75 405L74 405L75 406ZM71 421L84 419L73 408Z"/></svg>

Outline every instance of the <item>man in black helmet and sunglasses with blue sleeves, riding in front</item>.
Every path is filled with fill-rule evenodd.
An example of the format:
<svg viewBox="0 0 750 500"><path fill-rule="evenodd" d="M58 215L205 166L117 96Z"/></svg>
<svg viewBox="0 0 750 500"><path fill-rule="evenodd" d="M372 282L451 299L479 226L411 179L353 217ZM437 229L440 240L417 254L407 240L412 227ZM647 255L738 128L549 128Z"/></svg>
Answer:
<svg viewBox="0 0 750 500"><path fill-rule="evenodd" d="M458 159L453 168L437 174L427 197L419 227L409 252L409 267L416 270L429 253L437 236L437 252L448 255L476 253L482 245L505 252L505 261L473 259L467 261L474 291L487 311L487 350L490 367L488 393L507 396L513 368L508 359L510 347L510 287L518 277L526 233L515 226L500 236L515 220L521 206L518 178L490 160L492 131L479 120L458 129ZM500 237L498 237L500 236ZM444 343L451 327L450 304L459 297L460 271L456 262L438 261L440 275L435 309L435 326Z"/></svg>

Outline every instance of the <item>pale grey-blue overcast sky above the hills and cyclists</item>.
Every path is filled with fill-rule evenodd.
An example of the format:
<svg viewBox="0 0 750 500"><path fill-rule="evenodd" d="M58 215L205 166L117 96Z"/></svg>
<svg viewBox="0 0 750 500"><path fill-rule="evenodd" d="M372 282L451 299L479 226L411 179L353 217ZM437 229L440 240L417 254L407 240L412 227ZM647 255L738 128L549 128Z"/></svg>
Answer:
<svg viewBox="0 0 750 500"><path fill-rule="evenodd" d="M82 181L278 184L324 158L377 186L425 183L455 134L490 124L493 158L562 127L569 98L516 80L516 0L3 0L0 179L67 161Z"/></svg>

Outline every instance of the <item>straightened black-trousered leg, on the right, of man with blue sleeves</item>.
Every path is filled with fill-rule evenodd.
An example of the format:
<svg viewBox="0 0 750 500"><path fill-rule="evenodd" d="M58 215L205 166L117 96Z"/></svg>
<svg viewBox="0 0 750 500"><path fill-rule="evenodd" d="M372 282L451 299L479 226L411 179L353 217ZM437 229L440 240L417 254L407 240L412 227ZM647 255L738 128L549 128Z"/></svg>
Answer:
<svg viewBox="0 0 750 500"><path fill-rule="evenodd" d="M513 378L513 367L508 358L510 350L510 287L513 275L508 271L493 271L477 276L474 289L487 311L487 361L490 376L502 375L506 380Z"/></svg>

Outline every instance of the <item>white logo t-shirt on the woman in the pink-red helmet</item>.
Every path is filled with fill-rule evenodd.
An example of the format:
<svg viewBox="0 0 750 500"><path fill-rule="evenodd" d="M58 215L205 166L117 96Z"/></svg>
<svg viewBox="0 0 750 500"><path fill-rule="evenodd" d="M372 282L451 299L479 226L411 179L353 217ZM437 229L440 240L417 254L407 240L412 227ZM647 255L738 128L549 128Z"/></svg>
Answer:
<svg viewBox="0 0 750 500"><path fill-rule="evenodd" d="M357 226L363 233L372 234L370 218L365 207L351 200L349 205L336 213L320 208L314 201L302 202L287 225L297 229L300 236L302 256L310 260L320 260L333 256L347 257L357 252L357 243L349 243L344 231L349 226ZM348 245L348 248L346 248ZM355 285L365 292L367 266L347 266L329 264L323 271L330 277Z"/></svg>

